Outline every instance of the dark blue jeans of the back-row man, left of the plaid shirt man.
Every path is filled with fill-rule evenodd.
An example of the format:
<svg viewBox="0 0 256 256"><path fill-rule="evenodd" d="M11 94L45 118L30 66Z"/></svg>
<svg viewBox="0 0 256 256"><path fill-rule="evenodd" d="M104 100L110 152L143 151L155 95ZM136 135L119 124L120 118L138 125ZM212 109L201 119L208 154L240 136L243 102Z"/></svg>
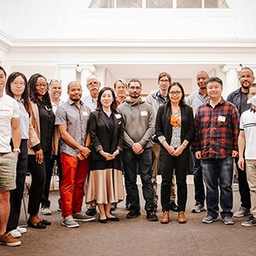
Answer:
<svg viewBox="0 0 256 256"><path fill-rule="evenodd" d="M202 171L201 171L201 160L195 158L195 152L191 147L191 155L194 167L194 185L195 185L195 203L205 204L205 185L203 183Z"/></svg>

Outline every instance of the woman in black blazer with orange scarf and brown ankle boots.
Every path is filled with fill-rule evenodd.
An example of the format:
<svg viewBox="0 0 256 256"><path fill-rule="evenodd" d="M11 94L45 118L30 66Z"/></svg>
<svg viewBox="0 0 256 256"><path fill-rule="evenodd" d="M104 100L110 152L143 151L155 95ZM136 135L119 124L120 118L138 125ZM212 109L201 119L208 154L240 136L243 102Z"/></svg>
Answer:
<svg viewBox="0 0 256 256"><path fill-rule="evenodd" d="M155 120L155 134L161 143L160 172L161 205L163 217L161 224L170 222L170 194L172 173L175 169L177 180L177 205L180 224L186 223L185 207L187 202L187 173L189 169L189 143L194 135L193 110L184 102L183 86L174 82L168 88L168 100L160 106Z"/></svg>

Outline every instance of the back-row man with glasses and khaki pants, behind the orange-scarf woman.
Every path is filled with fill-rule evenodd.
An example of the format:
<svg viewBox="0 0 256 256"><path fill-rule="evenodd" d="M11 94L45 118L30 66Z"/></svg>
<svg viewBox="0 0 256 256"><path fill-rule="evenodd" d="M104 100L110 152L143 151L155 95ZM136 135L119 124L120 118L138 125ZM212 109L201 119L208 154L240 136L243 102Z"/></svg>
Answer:
<svg viewBox="0 0 256 256"><path fill-rule="evenodd" d="M158 84L159 90L150 93L146 102L154 108L154 115L156 116L158 108L166 103L167 101L167 90L170 84L172 83L172 77L169 73L163 72L158 76ZM153 185L154 185L154 203L157 205L158 203L158 195L157 195L157 175L159 174L159 166L160 166L160 145L155 142L152 146L152 154L153 154ZM177 212L177 205L175 203L175 178L172 177L172 191L171 191L171 203L170 209L174 212Z"/></svg>

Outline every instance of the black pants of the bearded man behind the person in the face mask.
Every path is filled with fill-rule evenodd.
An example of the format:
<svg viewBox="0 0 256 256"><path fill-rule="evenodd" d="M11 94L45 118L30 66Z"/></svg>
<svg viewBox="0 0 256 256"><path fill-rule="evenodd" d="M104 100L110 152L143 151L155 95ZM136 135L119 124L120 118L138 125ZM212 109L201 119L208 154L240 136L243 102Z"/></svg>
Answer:
<svg viewBox="0 0 256 256"><path fill-rule="evenodd" d="M238 185L239 185L239 193L241 196L241 207L245 207L247 209L251 208L251 195L249 185L247 183L247 172L246 165L244 165L244 171L242 171L238 166L238 158L236 160L236 169L238 172Z"/></svg>

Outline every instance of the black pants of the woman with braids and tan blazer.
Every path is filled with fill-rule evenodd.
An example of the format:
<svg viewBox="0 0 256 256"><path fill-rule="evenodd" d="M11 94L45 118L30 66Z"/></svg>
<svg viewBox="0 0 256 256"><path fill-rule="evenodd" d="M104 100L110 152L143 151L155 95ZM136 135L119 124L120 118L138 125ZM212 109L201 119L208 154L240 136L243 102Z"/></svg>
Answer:
<svg viewBox="0 0 256 256"><path fill-rule="evenodd" d="M29 191L27 212L32 215L39 212L46 179L46 168L49 168L50 163L50 155L50 153L44 153L44 161L42 164L38 164L36 155L30 154L28 156L28 170L32 176L32 183Z"/></svg>

